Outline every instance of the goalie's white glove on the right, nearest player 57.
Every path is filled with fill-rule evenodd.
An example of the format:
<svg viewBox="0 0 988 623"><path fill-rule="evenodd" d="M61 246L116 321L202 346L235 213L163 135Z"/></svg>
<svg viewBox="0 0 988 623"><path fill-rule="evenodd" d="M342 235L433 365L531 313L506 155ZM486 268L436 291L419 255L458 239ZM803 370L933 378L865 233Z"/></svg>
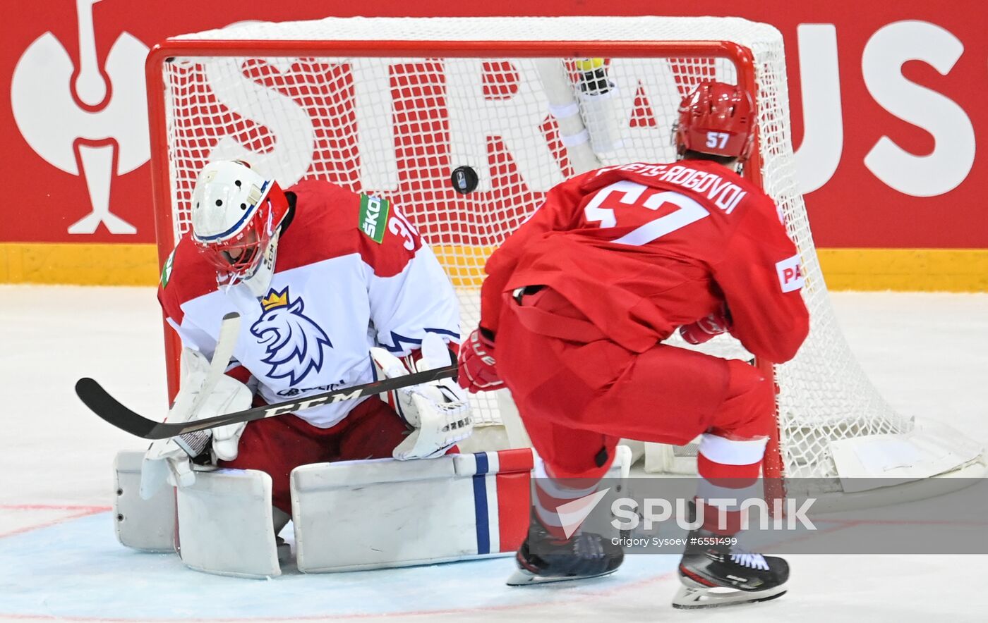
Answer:
<svg viewBox="0 0 988 623"><path fill-rule="evenodd" d="M371 359L379 377L397 378L409 373L401 359L387 350L372 348ZM422 340L422 358L415 363L415 370L422 372L452 363L450 350L443 339L434 333ZM394 458L404 461L415 458L442 456L454 443L462 441L473 432L473 418L466 393L450 378L395 390L391 404L412 430L392 452Z"/></svg>

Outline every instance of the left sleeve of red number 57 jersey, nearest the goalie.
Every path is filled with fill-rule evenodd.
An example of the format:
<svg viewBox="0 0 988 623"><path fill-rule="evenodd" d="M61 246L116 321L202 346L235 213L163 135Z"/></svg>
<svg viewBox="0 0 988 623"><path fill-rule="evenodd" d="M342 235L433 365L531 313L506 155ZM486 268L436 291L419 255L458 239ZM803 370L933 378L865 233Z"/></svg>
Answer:
<svg viewBox="0 0 988 623"><path fill-rule="evenodd" d="M487 278L480 287L481 327L497 333L503 302L502 294L522 254L531 241L544 236L547 232L570 227L584 195L580 186L584 180L595 174L596 171L591 171L552 187L532 217L512 232L487 260L484 266Z"/></svg>

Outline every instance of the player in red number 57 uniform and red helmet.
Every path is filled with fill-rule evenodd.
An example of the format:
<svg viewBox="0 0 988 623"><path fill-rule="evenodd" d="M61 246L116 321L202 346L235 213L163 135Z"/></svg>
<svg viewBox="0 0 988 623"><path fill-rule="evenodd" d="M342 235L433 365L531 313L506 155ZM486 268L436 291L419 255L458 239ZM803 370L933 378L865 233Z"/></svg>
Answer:
<svg viewBox="0 0 988 623"><path fill-rule="evenodd" d="M755 119L743 90L700 84L679 110L677 162L606 167L556 186L487 262L459 383L511 390L544 469L509 584L617 570L619 547L567 536L557 508L593 493L568 479L599 480L620 437L685 444L701 435L698 500L758 477L775 426L773 384L743 361L664 344L677 329L694 344L729 332L782 362L806 337L799 255L775 203L738 173ZM703 516L695 536L739 530L740 510L727 512L726 529L716 509ZM779 596L788 568L726 545L691 546L680 577L674 603L698 607Z"/></svg>

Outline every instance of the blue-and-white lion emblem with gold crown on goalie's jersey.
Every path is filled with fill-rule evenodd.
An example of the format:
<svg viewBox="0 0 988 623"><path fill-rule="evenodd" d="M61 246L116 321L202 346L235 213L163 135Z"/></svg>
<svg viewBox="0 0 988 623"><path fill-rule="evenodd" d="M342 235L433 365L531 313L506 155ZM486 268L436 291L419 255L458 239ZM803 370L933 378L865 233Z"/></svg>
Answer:
<svg viewBox="0 0 988 623"><path fill-rule="evenodd" d="M251 325L250 332L264 346L267 355L261 359L271 365L268 376L286 378L294 385L315 370L323 362L323 347L333 348L326 333L302 311L301 298L294 301L288 294L288 286L281 292L269 290L261 299L264 313Z"/></svg>

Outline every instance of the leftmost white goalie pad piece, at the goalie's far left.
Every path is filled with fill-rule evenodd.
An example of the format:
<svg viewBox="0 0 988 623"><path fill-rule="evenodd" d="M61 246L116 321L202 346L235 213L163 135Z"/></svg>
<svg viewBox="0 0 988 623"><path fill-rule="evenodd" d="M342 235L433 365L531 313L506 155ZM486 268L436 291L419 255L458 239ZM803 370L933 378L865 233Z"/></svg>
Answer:
<svg viewBox="0 0 988 623"><path fill-rule="evenodd" d="M117 540L145 552L175 551L175 489L162 487L149 500L140 497L142 450L122 450L114 459L114 522Z"/></svg>

